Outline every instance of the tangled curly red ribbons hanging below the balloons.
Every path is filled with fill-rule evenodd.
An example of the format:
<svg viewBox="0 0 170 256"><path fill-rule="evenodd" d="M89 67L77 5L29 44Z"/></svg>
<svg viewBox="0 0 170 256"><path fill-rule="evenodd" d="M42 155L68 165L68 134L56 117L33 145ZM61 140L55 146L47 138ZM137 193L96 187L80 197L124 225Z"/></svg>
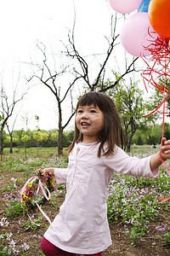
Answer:
<svg viewBox="0 0 170 256"><path fill-rule="evenodd" d="M148 33L150 34L149 31L148 31ZM151 37L151 34L150 34L150 37ZM161 108L161 106L163 107L162 137L164 134L164 125L165 125L165 113L166 113L165 112L165 102L167 102L167 100L170 98L170 90L166 86L167 85L167 77L170 78L169 40L170 40L170 38L157 37L154 43L152 42L147 47L144 47L146 50L150 50L151 57L150 57L149 61L146 61L146 60L144 60L144 58L142 58L146 64L146 70L144 70L144 72L141 73L146 91L148 92L146 83L148 85L151 84L154 87L156 87L156 89L159 90L161 95L163 96L162 102L156 107L155 110L153 110L151 113L145 115L145 117L150 116L150 114L155 113L156 111L159 112L158 109ZM152 61L152 63L154 61L152 67L149 64L150 61ZM164 77L164 83L160 81L161 77ZM156 83L156 79L159 81L159 83ZM159 113L161 113L161 112L159 112ZM161 160L161 158L160 158L160 160ZM168 171L165 162L163 160L161 160L161 163L166 168L167 173L170 177L170 172ZM157 198L157 199L160 200L161 202L164 202L164 201L170 200L170 196L167 198Z"/></svg>

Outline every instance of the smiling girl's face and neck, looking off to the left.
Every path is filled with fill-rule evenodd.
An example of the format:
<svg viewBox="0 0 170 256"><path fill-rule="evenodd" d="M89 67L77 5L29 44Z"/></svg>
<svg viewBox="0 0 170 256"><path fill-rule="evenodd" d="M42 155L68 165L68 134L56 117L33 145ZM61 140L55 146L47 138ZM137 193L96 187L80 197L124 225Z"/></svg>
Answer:
<svg viewBox="0 0 170 256"><path fill-rule="evenodd" d="M98 141L98 132L104 126L104 113L94 105L79 106L76 115L77 129L83 134L82 143Z"/></svg>

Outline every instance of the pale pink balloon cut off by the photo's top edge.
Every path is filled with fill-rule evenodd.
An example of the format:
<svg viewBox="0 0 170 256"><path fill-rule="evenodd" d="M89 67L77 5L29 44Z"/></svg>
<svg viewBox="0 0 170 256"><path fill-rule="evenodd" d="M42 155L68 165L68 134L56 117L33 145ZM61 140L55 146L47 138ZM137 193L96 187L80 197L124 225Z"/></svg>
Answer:
<svg viewBox="0 0 170 256"><path fill-rule="evenodd" d="M108 0L111 8L120 14L129 14L139 8L142 0Z"/></svg>

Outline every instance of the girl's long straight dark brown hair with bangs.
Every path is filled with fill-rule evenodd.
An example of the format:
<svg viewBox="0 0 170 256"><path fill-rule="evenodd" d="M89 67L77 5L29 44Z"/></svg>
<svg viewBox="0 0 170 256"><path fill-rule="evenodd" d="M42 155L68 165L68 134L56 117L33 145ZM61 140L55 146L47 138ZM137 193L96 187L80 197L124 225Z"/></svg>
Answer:
<svg viewBox="0 0 170 256"><path fill-rule="evenodd" d="M124 136L119 114L117 113L116 107L109 96L95 91L89 91L88 93L83 95L77 102L77 109L80 106L90 106L92 104L94 105L94 107L98 106L100 111L104 113L105 125L98 134L100 143L98 156L100 157L101 154L113 154L115 144L119 147L124 147ZM74 139L71 143L71 146L68 148L69 152L71 152L78 139L82 139L82 133L77 129L77 125L75 124ZM104 145L106 142L108 144L108 147L104 149Z"/></svg>

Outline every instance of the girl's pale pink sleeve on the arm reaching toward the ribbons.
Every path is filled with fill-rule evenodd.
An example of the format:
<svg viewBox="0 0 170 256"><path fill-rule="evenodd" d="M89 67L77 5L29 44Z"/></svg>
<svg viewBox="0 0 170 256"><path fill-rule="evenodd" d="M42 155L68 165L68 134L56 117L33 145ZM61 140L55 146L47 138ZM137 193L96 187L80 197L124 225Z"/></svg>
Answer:
<svg viewBox="0 0 170 256"><path fill-rule="evenodd" d="M105 157L105 164L114 172L136 177L157 177L159 168L153 172L150 170L150 156L139 159L126 154L122 148L115 147L114 154Z"/></svg>

